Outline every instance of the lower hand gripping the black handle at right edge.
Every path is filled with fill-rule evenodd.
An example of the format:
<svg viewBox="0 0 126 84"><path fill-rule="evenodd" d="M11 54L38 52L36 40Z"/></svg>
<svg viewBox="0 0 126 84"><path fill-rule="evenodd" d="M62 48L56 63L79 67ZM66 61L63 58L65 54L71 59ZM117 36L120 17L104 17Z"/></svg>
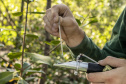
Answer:
<svg viewBox="0 0 126 84"><path fill-rule="evenodd" d="M99 61L100 65L116 67L113 70L87 74L91 84L126 84L126 60L108 56Z"/></svg>

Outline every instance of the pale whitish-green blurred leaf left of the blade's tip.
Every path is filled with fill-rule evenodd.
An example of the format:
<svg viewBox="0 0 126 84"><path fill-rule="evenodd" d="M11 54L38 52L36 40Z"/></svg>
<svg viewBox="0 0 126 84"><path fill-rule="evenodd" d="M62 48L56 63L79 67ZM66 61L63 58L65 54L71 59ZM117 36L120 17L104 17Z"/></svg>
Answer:
<svg viewBox="0 0 126 84"><path fill-rule="evenodd" d="M43 56L37 53L26 53L33 62L35 63L43 63L43 64L51 64L51 58L49 56Z"/></svg>

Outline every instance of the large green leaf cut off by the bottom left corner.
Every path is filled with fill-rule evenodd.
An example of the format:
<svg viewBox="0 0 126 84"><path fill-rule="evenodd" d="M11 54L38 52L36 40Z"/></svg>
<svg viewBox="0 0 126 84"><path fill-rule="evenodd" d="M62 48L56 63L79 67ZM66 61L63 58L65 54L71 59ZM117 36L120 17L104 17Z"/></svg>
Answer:
<svg viewBox="0 0 126 84"><path fill-rule="evenodd" d="M0 84L6 84L13 78L13 72L0 72Z"/></svg>

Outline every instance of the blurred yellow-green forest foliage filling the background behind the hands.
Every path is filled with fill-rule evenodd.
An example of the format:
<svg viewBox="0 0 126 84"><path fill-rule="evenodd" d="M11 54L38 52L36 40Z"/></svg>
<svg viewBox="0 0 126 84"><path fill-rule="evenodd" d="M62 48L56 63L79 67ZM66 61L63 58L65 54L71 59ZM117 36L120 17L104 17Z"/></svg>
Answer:
<svg viewBox="0 0 126 84"><path fill-rule="evenodd" d="M26 0L24 0L26 1ZM59 38L50 36L51 41L45 41L43 16L46 11L47 0L30 0L28 11L28 28L26 30L25 52L34 52L44 55L45 44L50 50L59 43ZM125 0L51 0L51 6L66 4L72 11L80 28L90 37L99 48L103 48L111 37L111 31L119 15L125 7ZM23 9L21 9L23 7ZM4 71L10 63L11 68L20 67L22 39L25 26L26 3L22 0L0 0L0 72ZM73 60L72 53L64 43L64 57L61 56L60 47L49 53L54 63ZM16 58L9 56L18 52ZM8 60L8 61L6 61ZM32 64L32 70L42 70L43 65L33 63L27 55L24 61ZM27 64L26 63L26 64ZM27 64L28 65L28 64ZM37 66L36 66L37 65ZM48 66L46 80L43 84L88 84L85 73L74 75L74 70ZM27 72L24 79L29 84L39 84L41 73ZM27 79L29 77L33 77ZM25 83L24 83L25 84Z"/></svg>

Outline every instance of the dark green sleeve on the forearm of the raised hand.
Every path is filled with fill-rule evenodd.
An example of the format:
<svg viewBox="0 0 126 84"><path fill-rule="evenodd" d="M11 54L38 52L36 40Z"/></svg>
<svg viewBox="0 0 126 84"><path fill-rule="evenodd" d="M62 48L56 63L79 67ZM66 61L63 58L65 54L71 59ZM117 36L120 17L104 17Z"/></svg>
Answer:
<svg viewBox="0 0 126 84"><path fill-rule="evenodd" d="M82 42L76 47L70 47L71 51L75 55L75 58L80 54L83 53L94 60L98 61L100 59L105 58L104 52L98 48L93 41L88 38L86 35Z"/></svg>

